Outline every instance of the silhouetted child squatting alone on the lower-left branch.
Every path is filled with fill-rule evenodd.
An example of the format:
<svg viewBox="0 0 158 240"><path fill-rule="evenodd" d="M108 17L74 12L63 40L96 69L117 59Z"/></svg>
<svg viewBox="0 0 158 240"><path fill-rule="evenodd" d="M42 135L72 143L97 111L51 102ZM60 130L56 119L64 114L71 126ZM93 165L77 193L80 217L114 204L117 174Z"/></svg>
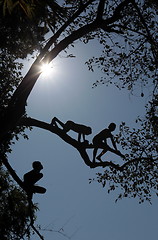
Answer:
<svg viewBox="0 0 158 240"><path fill-rule="evenodd" d="M32 167L30 172L24 174L24 185L30 198L32 198L33 193L43 194L46 192L45 188L35 185L43 177L43 173L40 173L43 169L41 162L33 162Z"/></svg>

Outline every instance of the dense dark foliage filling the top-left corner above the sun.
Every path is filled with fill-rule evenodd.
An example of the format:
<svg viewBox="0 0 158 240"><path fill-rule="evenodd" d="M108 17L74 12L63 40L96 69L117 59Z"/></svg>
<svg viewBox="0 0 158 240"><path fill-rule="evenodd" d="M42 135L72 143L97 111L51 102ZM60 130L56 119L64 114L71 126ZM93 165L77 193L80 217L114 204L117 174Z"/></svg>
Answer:
<svg viewBox="0 0 158 240"><path fill-rule="evenodd" d="M52 0L1 0L1 49L7 48L17 58L26 58L41 49L45 34L63 22L64 15L64 9Z"/></svg>

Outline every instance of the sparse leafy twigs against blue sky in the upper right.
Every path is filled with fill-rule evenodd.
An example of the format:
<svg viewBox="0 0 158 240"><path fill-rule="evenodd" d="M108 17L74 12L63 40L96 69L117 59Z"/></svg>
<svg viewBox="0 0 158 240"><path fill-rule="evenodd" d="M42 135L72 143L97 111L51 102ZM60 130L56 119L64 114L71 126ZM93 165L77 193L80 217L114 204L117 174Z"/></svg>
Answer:
<svg viewBox="0 0 158 240"><path fill-rule="evenodd" d="M116 8L112 2L107 1L105 19ZM100 56L86 61L86 65L91 71L101 69L104 76L93 87L114 83L119 89L127 88L133 93L135 89L142 90L147 85L156 85L157 8L153 8L147 1L139 2L137 7L139 11L132 4L124 7L120 12L121 17L111 24L111 31L96 32L95 37L102 45L102 52ZM115 33L115 30L120 31L120 34Z"/></svg>

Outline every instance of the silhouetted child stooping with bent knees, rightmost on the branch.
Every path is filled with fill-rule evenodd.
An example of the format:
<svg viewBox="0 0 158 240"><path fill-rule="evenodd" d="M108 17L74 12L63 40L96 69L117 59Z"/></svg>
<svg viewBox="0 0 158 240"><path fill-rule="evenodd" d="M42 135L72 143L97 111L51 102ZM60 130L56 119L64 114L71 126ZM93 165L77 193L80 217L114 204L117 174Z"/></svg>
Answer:
<svg viewBox="0 0 158 240"><path fill-rule="evenodd" d="M117 150L113 135L111 133L115 130L115 128L116 128L116 124L110 123L108 128L103 129L100 133L98 133L93 138L93 145L94 145L93 162L95 162L95 158L98 159L99 161L102 161L101 156L103 156L107 151L113 152L121 157L124 157L124 155ZM111 139L114 149L109 147L109 145L107 144L107 138ZM96 157L98 148L103 148L103 151Z"/></svg>

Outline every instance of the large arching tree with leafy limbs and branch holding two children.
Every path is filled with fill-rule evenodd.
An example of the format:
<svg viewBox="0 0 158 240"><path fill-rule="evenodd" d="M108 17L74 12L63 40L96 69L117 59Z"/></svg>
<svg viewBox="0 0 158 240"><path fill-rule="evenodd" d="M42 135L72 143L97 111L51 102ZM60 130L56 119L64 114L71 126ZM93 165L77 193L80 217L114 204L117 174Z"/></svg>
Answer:
<svg viewBox="0 0 158 240"><path fill-rule="evenodd" d="M117 2L69 0L64 1L62 9L66 9L66 14L62 19L56 21L55 28L51 29L49 39L44 42L43 37L46 31L40 37L37 36L37 44L31 43L32 49L38 49L39 54L21 81L17 79L17 76L14 76L17 85L11 81L11 86L12 90L15 87L16 89L14 92L7 92L9 99L4 97L0 120L1 126L3 126L0 132L2 162L9 168L6 164L6 151L10 148L13 137L22 133L25 127L36 126L57 134L73 146L90 168L105 168L104 173L98 173L98 182L102 183L103 186L110 182L109 191L114 190L117 185L121 186L123 194L119 195L119 198L138 196L140 201L150 200L152 189L156 191L156 194L158 190L156 174L158 164L156 154L157 130L155 127L157 124L157 2L149 0L120 0ZM43 15L40 13L39 18L37 18L39 22L35 23L36 26L39 23L39 28L41 23L45 23L49 27L48 22L41 17ZM5 30L6 28L4 28ZM31 31L34 33L34 29ZM115 36L117 36L117 40ZM21 36L18 36L18 39L21 39ZM80 143L59 127L25 115L28 96L41 74L41 64L53 61L61 51L67 50L76 40L88 44L94 39L98 40L103 50L100 56L94 56L86 64L91 71L97 65L105 76L94 86L100 83L114 83L120 89L126 87L133 93L136 86L140 85L143 90L143 86L149 83L150 86L152 85L152 96L147 106L146 116L143 120L136 120L140 123L139 128L130 130L125 123L120 126L117 141L124 147L126 154L122 166L108 161L93 163L87 153L87 149L94 148L92 144ZM39 48L37 47L38 40ZM22 42L19 44L22 44L23 49L26 49ZM11 54L13 62L14 55L16 59L16 57L24 58L30 53L26 51L22 56L18 50L17 53L14 53L12 49L8 49L6 56ZM7 58L4 61L7 61ZM16 67L14 62L13 69L16 70ZM10 75L8 76L10 78ZM141 96L143 97L143 92L141 92ZM11 169L8 170L15 179ZM16 181L20 184L17 178Z"/></svg>

